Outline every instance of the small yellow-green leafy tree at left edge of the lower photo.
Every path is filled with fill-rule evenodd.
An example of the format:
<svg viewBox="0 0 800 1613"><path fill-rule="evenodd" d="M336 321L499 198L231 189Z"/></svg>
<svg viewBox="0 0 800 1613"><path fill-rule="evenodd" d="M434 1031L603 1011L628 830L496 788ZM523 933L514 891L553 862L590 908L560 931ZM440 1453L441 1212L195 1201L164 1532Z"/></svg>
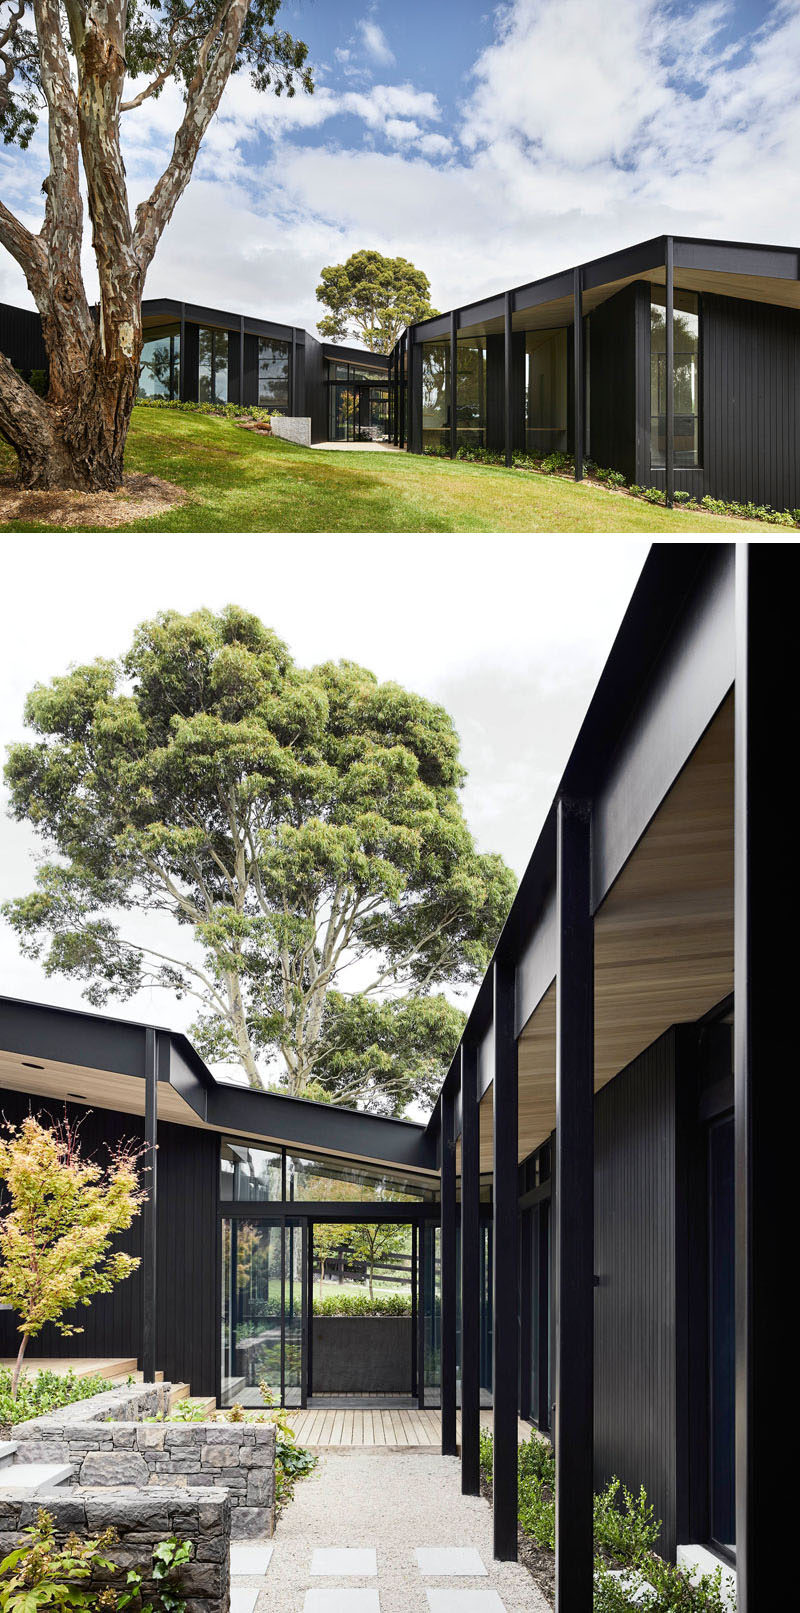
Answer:
<svg viewBox="0 0 800 1613"><path fill-rule="evenodd" d="M21 1334L13 1395L27 1340L45 1323L66 1337L82 1332L69 1311L90 1305L95 1294L110 1294L139 1266L132 1255L111 1248L111 1239L131 1226L147 1197L139 1157L135 1145L121 1145L102 1166L82 1158L77 1134L66 1121L48 1127L29 1115L19 1126L3 1123L0 1300L18 1313Z"/></svg>

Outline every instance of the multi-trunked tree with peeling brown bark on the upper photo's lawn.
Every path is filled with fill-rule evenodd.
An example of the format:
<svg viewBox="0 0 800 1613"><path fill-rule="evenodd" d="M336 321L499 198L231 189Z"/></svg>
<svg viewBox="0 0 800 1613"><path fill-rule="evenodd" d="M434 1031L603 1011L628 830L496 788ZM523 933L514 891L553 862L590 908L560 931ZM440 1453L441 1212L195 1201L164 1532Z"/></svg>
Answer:
<svg viewBox="0 0 800 1613"><path fill-rule="evenodd" d="M26 147L47 113L50 171L32 234L0 202L0 245L42 316L47 398L0 355L0 431L23 487L115 489L135 398L142 290L223 90L250 69L260 90L311 90L306 47L274 29L281 0L10 0L0 13L0 127ZM131 76L134 84L126 89ZM152 194L131 218L123 113L181 85L184 116ZM81 248L85 184L100 310Z"/></svg>

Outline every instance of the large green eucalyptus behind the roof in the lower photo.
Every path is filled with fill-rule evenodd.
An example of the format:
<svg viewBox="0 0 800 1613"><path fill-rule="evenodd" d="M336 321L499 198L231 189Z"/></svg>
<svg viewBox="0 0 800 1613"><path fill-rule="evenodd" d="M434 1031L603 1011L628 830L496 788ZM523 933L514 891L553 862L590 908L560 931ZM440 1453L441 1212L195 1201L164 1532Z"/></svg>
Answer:
<svg viewBox="0 0 800 1613"><path fill-rule="evenodd" d="M352 661L302 669L227 606L156 616L37 686L26 721L11 811L55 853L3 910L29 957L95 1005L194 995L200 1050L253 1087L271 1060L292 1094L431 1095L461 1027L440 989L481 977L515 890L474 847L442 706Z"/></svg>

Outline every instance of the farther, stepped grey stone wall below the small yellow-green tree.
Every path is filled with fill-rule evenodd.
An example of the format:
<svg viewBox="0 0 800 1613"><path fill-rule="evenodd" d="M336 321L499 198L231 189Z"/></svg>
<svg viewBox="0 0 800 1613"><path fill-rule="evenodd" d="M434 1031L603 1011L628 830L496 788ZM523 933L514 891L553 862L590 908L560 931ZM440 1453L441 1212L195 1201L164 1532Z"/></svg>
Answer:
<svg viewBox="0 0 800 1613"><path fill-rule="evenodd" d="M142 1421L165 1410L169 1387L111 1390L19 1423L16 1461L69 1463L71 1486L224 1489L235 1539L273 1534L274 1426Z"/></svg>

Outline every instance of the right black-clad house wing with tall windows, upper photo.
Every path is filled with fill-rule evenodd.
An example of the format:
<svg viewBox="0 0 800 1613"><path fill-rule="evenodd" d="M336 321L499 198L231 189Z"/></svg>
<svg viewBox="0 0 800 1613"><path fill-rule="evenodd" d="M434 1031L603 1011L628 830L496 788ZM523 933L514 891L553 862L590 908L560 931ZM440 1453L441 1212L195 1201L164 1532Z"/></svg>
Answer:
<svg viewBox="0 0 800 1613"><path fill-rule="evenodd" d="M590 458L669 498L795 510L800 252L640 242L413 326L390 384L411 453L573 453L577 479Z"/></svg>

